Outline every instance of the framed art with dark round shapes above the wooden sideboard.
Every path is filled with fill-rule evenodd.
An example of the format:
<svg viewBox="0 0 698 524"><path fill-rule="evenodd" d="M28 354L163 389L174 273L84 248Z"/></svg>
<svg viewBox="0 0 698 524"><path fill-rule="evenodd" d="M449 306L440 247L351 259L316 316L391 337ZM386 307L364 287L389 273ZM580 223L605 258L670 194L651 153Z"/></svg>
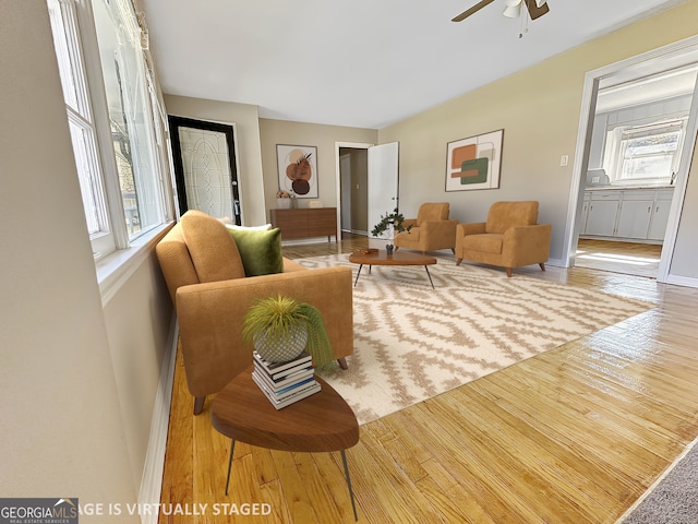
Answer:
<svg viewBox="0 0 698 524"><path fill-rule="evenodd" d="M317 198L317 147L313 145L276 145L279 190L299 199Z"/></svg>

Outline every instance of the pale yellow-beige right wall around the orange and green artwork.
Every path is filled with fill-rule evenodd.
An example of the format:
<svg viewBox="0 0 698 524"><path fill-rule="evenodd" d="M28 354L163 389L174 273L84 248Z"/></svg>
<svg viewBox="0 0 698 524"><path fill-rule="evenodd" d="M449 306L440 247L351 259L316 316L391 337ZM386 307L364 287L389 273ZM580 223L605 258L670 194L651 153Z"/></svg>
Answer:
<svg viewBox="0 0 698 524"><path fill-rule="evenodd" d="M540 222L553 224L551 259L561 259L585 74L693 36L695 20L698 0L689 0L380 130L380 143L400 142L401 210L412 215L423 201L448 201L466 222L483 219L497 200L539 200ZM496 129L504 129L501 189L445 192L447 143Z"/></svg>

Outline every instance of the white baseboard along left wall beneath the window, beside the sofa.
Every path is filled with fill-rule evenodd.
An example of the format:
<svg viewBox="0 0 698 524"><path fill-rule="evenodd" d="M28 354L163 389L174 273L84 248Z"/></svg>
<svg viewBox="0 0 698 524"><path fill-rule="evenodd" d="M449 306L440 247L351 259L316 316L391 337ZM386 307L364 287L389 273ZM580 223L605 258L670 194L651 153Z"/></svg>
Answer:
<svg viewBox="0 0 698 524"><path fill-rule="evenodd" d="M145 466L143 467L143 478L141 479L141 491L139 493L139 503L144 504L146 508L157 508L156 504L160 503L178 338L179 325L177 323L177 317L172 313L170 336L167 341L165 354L163 355L163 368L160 369L160 380L155 396L153 421L151 422L151 438L148 440ZM145 512L145 514L141 514L142 524L157 524L158 512L154 512L154 515L149 513L151 512Z"/></svg>

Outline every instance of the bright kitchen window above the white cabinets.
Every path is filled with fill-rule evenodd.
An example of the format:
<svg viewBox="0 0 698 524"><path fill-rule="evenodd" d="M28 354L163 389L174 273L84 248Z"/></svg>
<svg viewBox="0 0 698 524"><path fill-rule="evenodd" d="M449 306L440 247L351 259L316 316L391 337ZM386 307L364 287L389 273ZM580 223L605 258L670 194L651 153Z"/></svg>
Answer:
<svg viewBox="0 0 698 524"><path fill-rule="evenodd" d="M685 119L617 127L609 132L604 168L613 182L667 182L678 169Z"/></svg>

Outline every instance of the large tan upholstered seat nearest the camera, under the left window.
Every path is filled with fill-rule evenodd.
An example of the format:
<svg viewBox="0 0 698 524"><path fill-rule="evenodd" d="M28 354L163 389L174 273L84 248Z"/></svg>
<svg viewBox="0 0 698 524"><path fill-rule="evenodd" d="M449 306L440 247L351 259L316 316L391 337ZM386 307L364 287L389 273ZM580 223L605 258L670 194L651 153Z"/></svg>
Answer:
<svg viewBox="0 0 698 524"><path fill-rule="evenodd" d="M206 395L252 365L252 347L240 333L242 318L257 298L282 294L315 306L335 357L347 368L345 357L353 352L349 267L308 270L284 259L284 273L245 277L226 226L198 211L186 212L156 252L177 310L194 414L203 409Z"/></svg>

